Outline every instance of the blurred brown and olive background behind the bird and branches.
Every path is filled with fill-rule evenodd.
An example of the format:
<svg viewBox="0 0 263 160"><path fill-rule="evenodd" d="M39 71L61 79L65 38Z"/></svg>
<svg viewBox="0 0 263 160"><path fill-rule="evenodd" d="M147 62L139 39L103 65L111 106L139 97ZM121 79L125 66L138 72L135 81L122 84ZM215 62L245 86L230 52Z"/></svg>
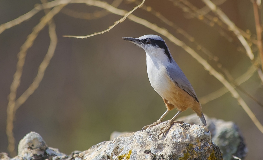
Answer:
<svg viewBox="0 0 263 160"><path fill-rule="evenodd" d="M111 4L113 0L107 2ZM193 16L192 13L195 12L191 11L185 2L146 0L145 6L148 6L148 11L139 8L133 14L166 28L207 59L208 63L219 72L222 72L218 68L221 64L234 79L244 74L252 63L233 32L224 24L218 25L216 16L211 11L208 15L212 16L214 21L205 16ZM205 7L201 0L189 0L189 2L198 9ZM240 29L252 38L256 38L253 6L249 0L215 0L214 2ZM41 4L41 1L1 0L0 24L29 12L36 3ZM123 0L118 8L130 11L137 5L136 2ZM100 32L121 18L115 14L108 14L96 19L95 14L93 19L79 19L64 13L72 10L96 13L102 9L85 4L69 4L66 8L54 17L58 44L44 78L37 90L16 111L13 129L16 151L19 140L30 131L39 133L48 146L58 148L66 154L74 150L84 151L92 145L109 140L113 131L141 130L143 126L157 121L166 110L162 98L153 90L148 80L144 50L122 40L122 37L159 34L127 19L103 35L87 39L62 37ZM172 21L177 26L177 30L174 29L174 25L163 23L149 11L157 11L155 15L161 14ZM18 61L17 54L32 32L32 28L44 15L44 11L40 11L30 20L5 30L0 35L1 152L8 152L5 132L6 109L10 85ZM190 41L179 32L178 27L192 36ZM165 37L163 39L166 40L173 58L193 85L199 99L223 87L186 51L175 46ZM17 97L23 94L36 77L49 43L46 26L27 52ZM214 54L215 59L219 61L215 62L213 57L207 56L197 44L206 48L207 53ZM252 42L249 44L257 57L257 46ZM241 87L263 103L263 87L257 72ZM240 90L238 92L263 123L263 108ZM263 159L263 134L230 93L202 106L203 113L207 116L233 121L239 126L249 149L246 159ZM176 110L171 111L165 120L172 118L176 113ZM188 109L180 116L191 113L193 111Z"/></svg>

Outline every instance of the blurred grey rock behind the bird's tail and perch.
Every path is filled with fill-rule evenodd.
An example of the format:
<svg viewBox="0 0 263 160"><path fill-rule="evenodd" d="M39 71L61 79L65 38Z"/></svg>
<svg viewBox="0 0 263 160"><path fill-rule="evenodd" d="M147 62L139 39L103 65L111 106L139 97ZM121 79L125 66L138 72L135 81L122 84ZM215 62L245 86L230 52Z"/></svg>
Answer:
<svg viewBox="0 0 263 160"><path fill-rule="evenodd" d="M248 153L243 135L238 126L233 122L209 118L205 115L207 126L212 134L212 141L220 148L223 159L231 160L232 155L243 159ZM189 124L200 124L196 114L178 118L177 121L184 121Z"/></svg>

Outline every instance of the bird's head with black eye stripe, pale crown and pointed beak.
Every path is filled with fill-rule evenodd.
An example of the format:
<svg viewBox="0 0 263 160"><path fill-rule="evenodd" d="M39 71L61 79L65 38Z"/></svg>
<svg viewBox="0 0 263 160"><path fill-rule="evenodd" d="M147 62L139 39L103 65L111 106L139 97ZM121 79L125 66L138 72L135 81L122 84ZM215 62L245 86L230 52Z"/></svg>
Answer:
<svg viewBox="0 0 263 160"><path fill-rule="evenodd" d="M165 41L158 35L143 35L139 38L122 37L122 39L143 48L146 51L146 54L149 54L150 56L153 55L154 57L160 58L167 57L170 62L172 61L172 56Z"/></svg>

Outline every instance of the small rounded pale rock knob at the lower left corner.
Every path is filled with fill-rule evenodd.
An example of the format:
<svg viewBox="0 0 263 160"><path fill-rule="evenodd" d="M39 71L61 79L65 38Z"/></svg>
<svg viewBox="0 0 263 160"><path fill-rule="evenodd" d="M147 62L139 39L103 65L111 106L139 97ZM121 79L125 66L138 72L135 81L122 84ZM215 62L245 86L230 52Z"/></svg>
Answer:
<svg viewBox="0 0 263 160"><path fill-rule="evenodd" d="M34 155L44 156L47 148L46 142L36 132L28 133L18 144L18 156L26 159L32 158Z"/></svg>

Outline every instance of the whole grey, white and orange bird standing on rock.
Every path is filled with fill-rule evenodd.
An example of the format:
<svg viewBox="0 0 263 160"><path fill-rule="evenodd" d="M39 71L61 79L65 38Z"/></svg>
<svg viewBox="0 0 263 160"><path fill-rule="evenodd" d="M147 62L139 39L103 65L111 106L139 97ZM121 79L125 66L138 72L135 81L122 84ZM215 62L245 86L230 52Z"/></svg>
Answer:
<svg viewBox="0 0 263 160"><path fill-rule="evenodd" d="M158 137L167 135L168 130L180 113L191 108L198 116L200 124L206 126L206 120L202 113L202 106L195 94L193 86L186 78L181 68L174 61L170 50L158 35L143 35L139 38L122 37L122 39L134 43L146 52L146 66L148 78L153 89L162 97L167 111L153 124L146 125L142 130L162 123L169 111L177 108L178 112L161 128Z"/></svg>

